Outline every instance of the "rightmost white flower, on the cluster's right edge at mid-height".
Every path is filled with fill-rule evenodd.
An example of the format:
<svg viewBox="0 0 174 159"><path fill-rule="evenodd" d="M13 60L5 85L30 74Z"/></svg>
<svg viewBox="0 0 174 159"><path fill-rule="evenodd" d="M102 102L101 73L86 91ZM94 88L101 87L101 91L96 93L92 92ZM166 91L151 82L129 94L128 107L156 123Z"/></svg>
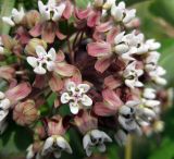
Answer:
<svg viewBox="0 0 174 159"><path fill-rule="evenodd" d="M162 77L165 73L166 71L162 66L157 66L156 70L149 72L149 75L157 84L166 85L166 80Z"/></svg>

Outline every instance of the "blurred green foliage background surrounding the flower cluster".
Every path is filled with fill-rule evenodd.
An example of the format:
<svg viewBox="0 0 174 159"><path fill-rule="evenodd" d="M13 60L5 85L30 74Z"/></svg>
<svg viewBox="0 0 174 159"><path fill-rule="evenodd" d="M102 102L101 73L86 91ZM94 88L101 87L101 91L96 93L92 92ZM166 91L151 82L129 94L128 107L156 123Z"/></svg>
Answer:
<svg viewBox="0 0 174 159"><path fill-rule="evenodd" d="M85 7L89 0L76 0L78 5ZM166 88L174 86L174 0L124 0L130 8L137 9L137 16L141 21L141 30L147 38L156 38L162 44L160 64L167 71ZM37 0L0 0L0 16L9 15L12 8L24 5L27 10L37 9ZM0 20L0 34L9 33L8 25ZM174 107L167 107L162 115L165 130L161 134L150 137L132 139L130 155L125 156L125 148L117 144L110 145L105 155L95 159L174 159ZM75 152L72 159L82 159L82 144L73 140ZM0 136L0 159L23 159L25 149L32 142L27 130L10 124L8 131ZM78 152L80 151L80 152ZM128 154L129 154L128 152ZM62 159L69 159L63 156Z"/></svg>

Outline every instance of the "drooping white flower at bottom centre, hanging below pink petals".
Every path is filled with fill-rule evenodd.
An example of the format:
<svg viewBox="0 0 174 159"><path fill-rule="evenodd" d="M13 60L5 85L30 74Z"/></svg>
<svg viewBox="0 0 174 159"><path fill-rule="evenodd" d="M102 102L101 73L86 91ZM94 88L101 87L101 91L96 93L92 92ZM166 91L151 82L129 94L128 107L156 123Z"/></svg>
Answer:
<svg viewBox="0 0 174 159"><path fill-rule="evenodd" d="M97 147L100 152L104 152L104 142L112 142L110 136L108 136L104 132L99 130L92 130L88 132L83 138L83 145L84 149L86 150L86 155L88 157L91 156L94 147Z"/></svg>

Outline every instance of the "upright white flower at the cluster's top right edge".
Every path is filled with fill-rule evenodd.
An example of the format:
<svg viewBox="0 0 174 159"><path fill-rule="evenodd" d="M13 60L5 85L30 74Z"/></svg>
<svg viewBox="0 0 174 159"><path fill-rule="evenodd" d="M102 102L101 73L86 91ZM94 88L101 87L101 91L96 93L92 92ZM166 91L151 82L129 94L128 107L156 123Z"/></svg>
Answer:
<svg viewBox="0 0 174 159"><path fill-rule="evenodd" d="M124 24L129 23L136 14L136 10L127 10L125 2L120 2L117 5L112 4L111 15L116 22L123 22Z"/></svg>

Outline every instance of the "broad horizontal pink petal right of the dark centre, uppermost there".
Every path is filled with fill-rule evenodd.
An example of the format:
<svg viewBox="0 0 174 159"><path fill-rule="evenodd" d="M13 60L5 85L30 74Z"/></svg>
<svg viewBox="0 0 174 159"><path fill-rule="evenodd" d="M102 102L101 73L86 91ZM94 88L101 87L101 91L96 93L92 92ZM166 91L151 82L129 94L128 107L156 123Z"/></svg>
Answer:
<svg viewBox="0 0 174 159"><path fill-rule="evenodd" d="M91 57L105 57L110 56L111 52L111 45L108 42L91 42L88 44L87 50L89 56Z"/></svg>

